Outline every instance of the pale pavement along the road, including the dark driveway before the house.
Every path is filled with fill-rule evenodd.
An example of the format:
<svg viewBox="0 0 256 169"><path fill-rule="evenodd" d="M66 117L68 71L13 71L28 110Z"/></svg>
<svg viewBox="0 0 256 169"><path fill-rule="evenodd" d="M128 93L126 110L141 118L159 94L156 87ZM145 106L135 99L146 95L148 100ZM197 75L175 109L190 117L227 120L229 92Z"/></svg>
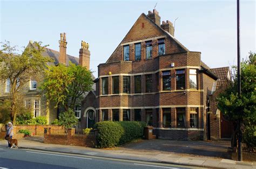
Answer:
<svg viewBox="0 0 256 169"><path fill-rule="evenodd" d="M44 144L42 138L19 140L19 148L52 152L84 154L95 157L107 157L126 160L148 161L210 168L255 168L256 161L235 161L225 159L228 142L214 141L175 141L175 140L139 140L122 147L90 148L70 145ZM0 146L6 146L6 140L0 140ZM208 156L207 156L208 155Z"/></svg>

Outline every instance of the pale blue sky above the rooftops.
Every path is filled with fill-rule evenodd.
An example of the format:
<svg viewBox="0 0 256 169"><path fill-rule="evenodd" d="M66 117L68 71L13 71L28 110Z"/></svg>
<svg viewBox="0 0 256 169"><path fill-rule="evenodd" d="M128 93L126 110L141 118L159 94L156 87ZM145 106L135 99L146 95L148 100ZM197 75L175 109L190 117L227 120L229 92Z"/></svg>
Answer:
<svg viewBox="0 0 256 169"><path fill-rule="evenodd" d="M0 42L26 46L41 41L59 51L66 32L67 53L79 56L80 42L90 44L90 69L98 77L105 63L137 18L156 5L161 21L175 22L175 38L190 51L200 51L211 68L237 64L237 3L218 1L3 1ZM255 0L240 0L241 58L256 52Z"/></svg>

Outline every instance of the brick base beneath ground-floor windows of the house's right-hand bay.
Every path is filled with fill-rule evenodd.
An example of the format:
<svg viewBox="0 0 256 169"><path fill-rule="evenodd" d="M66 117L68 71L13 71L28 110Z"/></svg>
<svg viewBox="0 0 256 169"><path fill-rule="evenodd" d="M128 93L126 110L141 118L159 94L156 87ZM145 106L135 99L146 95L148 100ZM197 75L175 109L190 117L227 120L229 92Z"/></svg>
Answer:
<svg viewBox="0 0 256 169"><path fill-rule="evenodd" d="M203 140L203 131L199 130L166 130L166 129L153 129L153 134L160 139L171 140Z"/></svg>

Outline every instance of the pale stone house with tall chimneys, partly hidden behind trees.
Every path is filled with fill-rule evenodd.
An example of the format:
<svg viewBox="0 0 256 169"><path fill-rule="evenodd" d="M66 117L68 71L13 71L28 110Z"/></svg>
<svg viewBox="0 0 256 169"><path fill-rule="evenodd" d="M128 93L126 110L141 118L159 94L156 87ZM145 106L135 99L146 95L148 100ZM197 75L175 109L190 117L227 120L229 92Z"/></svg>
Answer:
<svg viewBox="0 0 256 169"><path fill-rule="evenodd" d="M69 62L72 62L76 65L79 64L82 66L86 66L86 68L90 70L89 49L83 48L83 45L81 45L78 58L66 54L66 45L66 34L60 33L59 52L49 48L45 48L45 51L42 53L42 55L45 57L49 56L54 60L53 63L48 63L48 65L58 65L59 63L69 65ZM35 48L32 40L30 40L26 48ZM95 79L93 75L92 78ZM93 85L93 89L95 89L95 85ZM29 83L24 85L21 93L24 97L24 105L26 107L31 107L31 111L33 112L34 117L46 116L49 124L51 124L53 120L58 118L58 113L60 110L58 110L52 102L47 102L46 97L43 96L43 94L41 94L41 92L39 91L36 80L31 79ZM4 84L0 84L0 100L7 99L9 97L10 83L8 79L6 79ZM80 119L80 104L76 106L75 113L77 118Z"/></svg>

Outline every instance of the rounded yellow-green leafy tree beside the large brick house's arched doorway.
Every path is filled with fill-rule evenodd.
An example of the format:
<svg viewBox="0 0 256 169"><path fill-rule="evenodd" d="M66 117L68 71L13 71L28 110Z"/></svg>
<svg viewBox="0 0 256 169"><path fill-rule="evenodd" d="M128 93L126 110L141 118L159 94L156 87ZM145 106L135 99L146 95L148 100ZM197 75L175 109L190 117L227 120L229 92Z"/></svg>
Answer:
<svg viewBox="0 0 256 169"><path fill-rule="evenodd" d="M59 64L49 66L45 70L42 92L48 100L63 106L65 111L73 110L84 94L92 89L91 72L80 65L69 63L69 66Z"/></svg>

